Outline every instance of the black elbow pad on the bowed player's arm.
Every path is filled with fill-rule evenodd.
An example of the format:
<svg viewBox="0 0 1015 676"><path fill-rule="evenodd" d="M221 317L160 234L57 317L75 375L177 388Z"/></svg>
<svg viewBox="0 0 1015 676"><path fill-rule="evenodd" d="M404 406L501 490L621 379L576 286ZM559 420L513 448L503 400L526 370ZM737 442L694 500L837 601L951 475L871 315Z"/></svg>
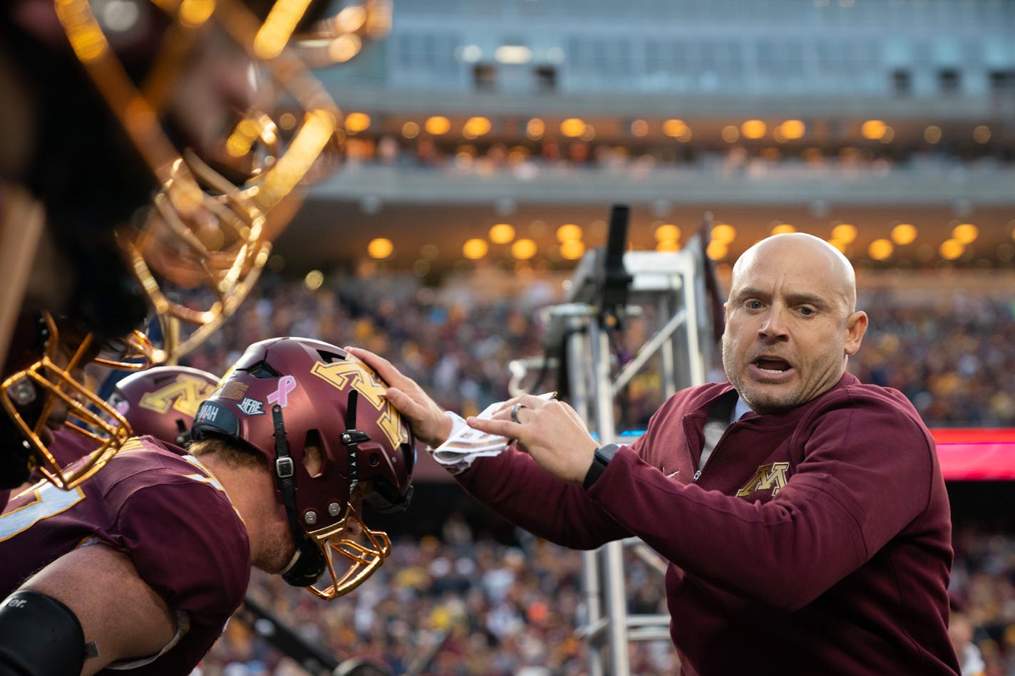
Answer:
<svg viewBox="0 0 1015 676"><path fill-rule="evenodd" d="M67 676L84 666L84 631L70 608L27 590L0 603L0 676Z"/></svg>

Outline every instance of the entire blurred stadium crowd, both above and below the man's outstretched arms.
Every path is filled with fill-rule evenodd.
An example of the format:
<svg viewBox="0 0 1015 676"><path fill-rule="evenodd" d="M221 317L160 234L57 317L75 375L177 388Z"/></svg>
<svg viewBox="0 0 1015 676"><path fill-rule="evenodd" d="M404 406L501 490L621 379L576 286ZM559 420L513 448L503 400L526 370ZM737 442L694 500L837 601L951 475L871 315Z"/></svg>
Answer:
<svg viewBox="0 0 1015 676"><path fill-rule="evenodd" d="M507 362L543 350L535 311L559 301L545 284L487 301L408 275L348 275L310 290L269 274L259 286L260 295L189 355L188 365L221 374L256 340L316 337L389 356L443 406L467 413L506 398ZM904 392L932 427L1015 425L1015 302L968 289L907 295L892 287L862 288L858 305L871 330L852 360L854 373ZM629 333L621 358L647 337L636 326ZM632 424L644 423L656 403L644 389L634 383L628 392ZM415 503L405 517L427 509ZM338 660L365 658L395 674L586 673L573 635L583 609L582 553L522 532L506 540L452 512L435 532L400 536L389 563L347 603L316 603L257 570L250 594ZM952 595L972 623L986 673L1015 674L1015 537L956 523L954 540ZM629 611L665 613L661 577L627 556ZM674 673L668 640L630 650L632 673ZM204 676L306 673L236 621L202 669Z"/></svg>

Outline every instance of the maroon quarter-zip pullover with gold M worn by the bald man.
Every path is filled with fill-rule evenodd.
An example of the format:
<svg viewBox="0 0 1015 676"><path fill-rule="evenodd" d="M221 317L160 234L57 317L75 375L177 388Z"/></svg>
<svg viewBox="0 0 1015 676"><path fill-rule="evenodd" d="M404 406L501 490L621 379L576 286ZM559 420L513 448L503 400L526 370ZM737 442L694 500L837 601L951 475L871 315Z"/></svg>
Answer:
<svg viewBox="0 0 1015 676"><path fill-rule="evenodd" d="M912 406L845 375L803 406L734 422L699 472L707 412L735 396L677 393L588 491L519 452L456 478L559 544L635 535L666 557L688 676L957 674L948 496Z"/></svg>

